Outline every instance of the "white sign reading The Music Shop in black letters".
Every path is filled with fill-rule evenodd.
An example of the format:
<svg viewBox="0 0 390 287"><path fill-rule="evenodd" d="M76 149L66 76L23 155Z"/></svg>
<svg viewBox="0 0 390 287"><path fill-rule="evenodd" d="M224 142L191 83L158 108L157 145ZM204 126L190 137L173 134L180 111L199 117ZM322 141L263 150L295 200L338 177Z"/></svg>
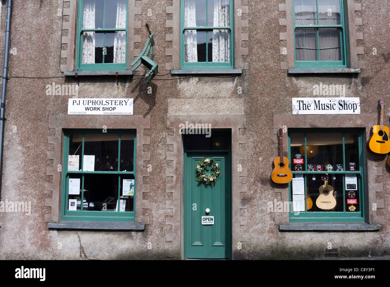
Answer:
<svg viewBox="0 0 390 287"><path fill-rule="evenodd" d="M360 114L359 98L293 98L293 115Z"/></svg>

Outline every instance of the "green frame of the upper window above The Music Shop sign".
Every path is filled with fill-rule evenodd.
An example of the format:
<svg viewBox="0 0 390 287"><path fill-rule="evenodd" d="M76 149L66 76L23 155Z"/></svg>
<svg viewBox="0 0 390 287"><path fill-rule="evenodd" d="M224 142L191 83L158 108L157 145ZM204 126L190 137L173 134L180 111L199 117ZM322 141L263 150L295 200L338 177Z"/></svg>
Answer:
<svg viewBox="0 0 390 287"><path fill-rule="evenodd" d="M316 14L317 14L317 25L296 25L296 14L295 14L295 4L302 0L293 0L293 22L294 22L294 59L295 59L295 68L347 68L347 37L346 37L346 21L344 13L344 0L339 0L340 3L340 24L339 25L318 25L319 24L319 10L318 2L321 0L312 0L316 2ZM298 5L298 3L297 3ZM328 11L331 9L328 9ZM303 13L302 13L303 19ZM324 28L330 29L339 29L340 30L340 61L321 61L320 59L320 47L319 47L319 30ZM316 39L317 39L317 60L316 61L297 61L297 43L296 43L296 32L306 30L306 29L315 29L316 30ZM332 46L332 44L331 44ZM328 48L326 48L328 49Z"/></svg>

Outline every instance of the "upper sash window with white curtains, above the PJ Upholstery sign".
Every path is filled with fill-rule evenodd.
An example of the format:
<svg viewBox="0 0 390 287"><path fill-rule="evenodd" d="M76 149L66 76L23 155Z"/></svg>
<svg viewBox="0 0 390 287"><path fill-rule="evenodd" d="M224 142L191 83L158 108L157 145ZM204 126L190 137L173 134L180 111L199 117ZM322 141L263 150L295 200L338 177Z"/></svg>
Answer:
<svg viewBox="0 0 390 287"><path fill-rule="evenodd" d="M78 70L126 70L127 0L81 0Z"/></svg>

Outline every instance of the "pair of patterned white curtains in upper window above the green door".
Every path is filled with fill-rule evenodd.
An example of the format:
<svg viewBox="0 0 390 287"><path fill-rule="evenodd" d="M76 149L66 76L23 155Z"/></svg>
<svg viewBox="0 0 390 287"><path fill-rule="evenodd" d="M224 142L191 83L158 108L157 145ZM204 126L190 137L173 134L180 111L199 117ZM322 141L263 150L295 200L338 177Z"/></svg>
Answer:
<svg viewBox="0 0 390 287"><path fill-rule="evenodd" d="M184 1L184 26L196 26L196 0ZM214 0L213 26L230 26L229 0ZM211 32L209 32L209 35ZM213 62L230 62L230 31L213 30ZM197 62L196 30L186 30L184 35L184 61Z"/></svg>

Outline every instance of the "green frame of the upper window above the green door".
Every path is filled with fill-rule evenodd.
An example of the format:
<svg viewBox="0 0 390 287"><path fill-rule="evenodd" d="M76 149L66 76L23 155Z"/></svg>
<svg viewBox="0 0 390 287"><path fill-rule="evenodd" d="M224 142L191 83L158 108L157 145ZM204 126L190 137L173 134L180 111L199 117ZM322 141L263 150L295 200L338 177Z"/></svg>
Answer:
<svg viewBox="0 0 390 287"><path fill-rule="evenodd" d="M233 0L227 0L229 2L229 25L228 26L185 26L184 25L184 2L186 0L180 0L180 67L181 69L233 69L234 68L234 13L233 13ZM203 0L206 2L205 14L206 14L206 25L208 25L208 4L210 0ZM184 60L184 51L185 51L185 33L188 30L196 30L197 32L206 32L206 42L210 38L210 34L213 35L213 30L229 30L230 35L230 61L229 62L213 62L209 60L209 45L206 45L206 61L202 62L186 62ZM210 40L210 39L209 39ZM211 38L212 40L212 38Z"/></svg>

